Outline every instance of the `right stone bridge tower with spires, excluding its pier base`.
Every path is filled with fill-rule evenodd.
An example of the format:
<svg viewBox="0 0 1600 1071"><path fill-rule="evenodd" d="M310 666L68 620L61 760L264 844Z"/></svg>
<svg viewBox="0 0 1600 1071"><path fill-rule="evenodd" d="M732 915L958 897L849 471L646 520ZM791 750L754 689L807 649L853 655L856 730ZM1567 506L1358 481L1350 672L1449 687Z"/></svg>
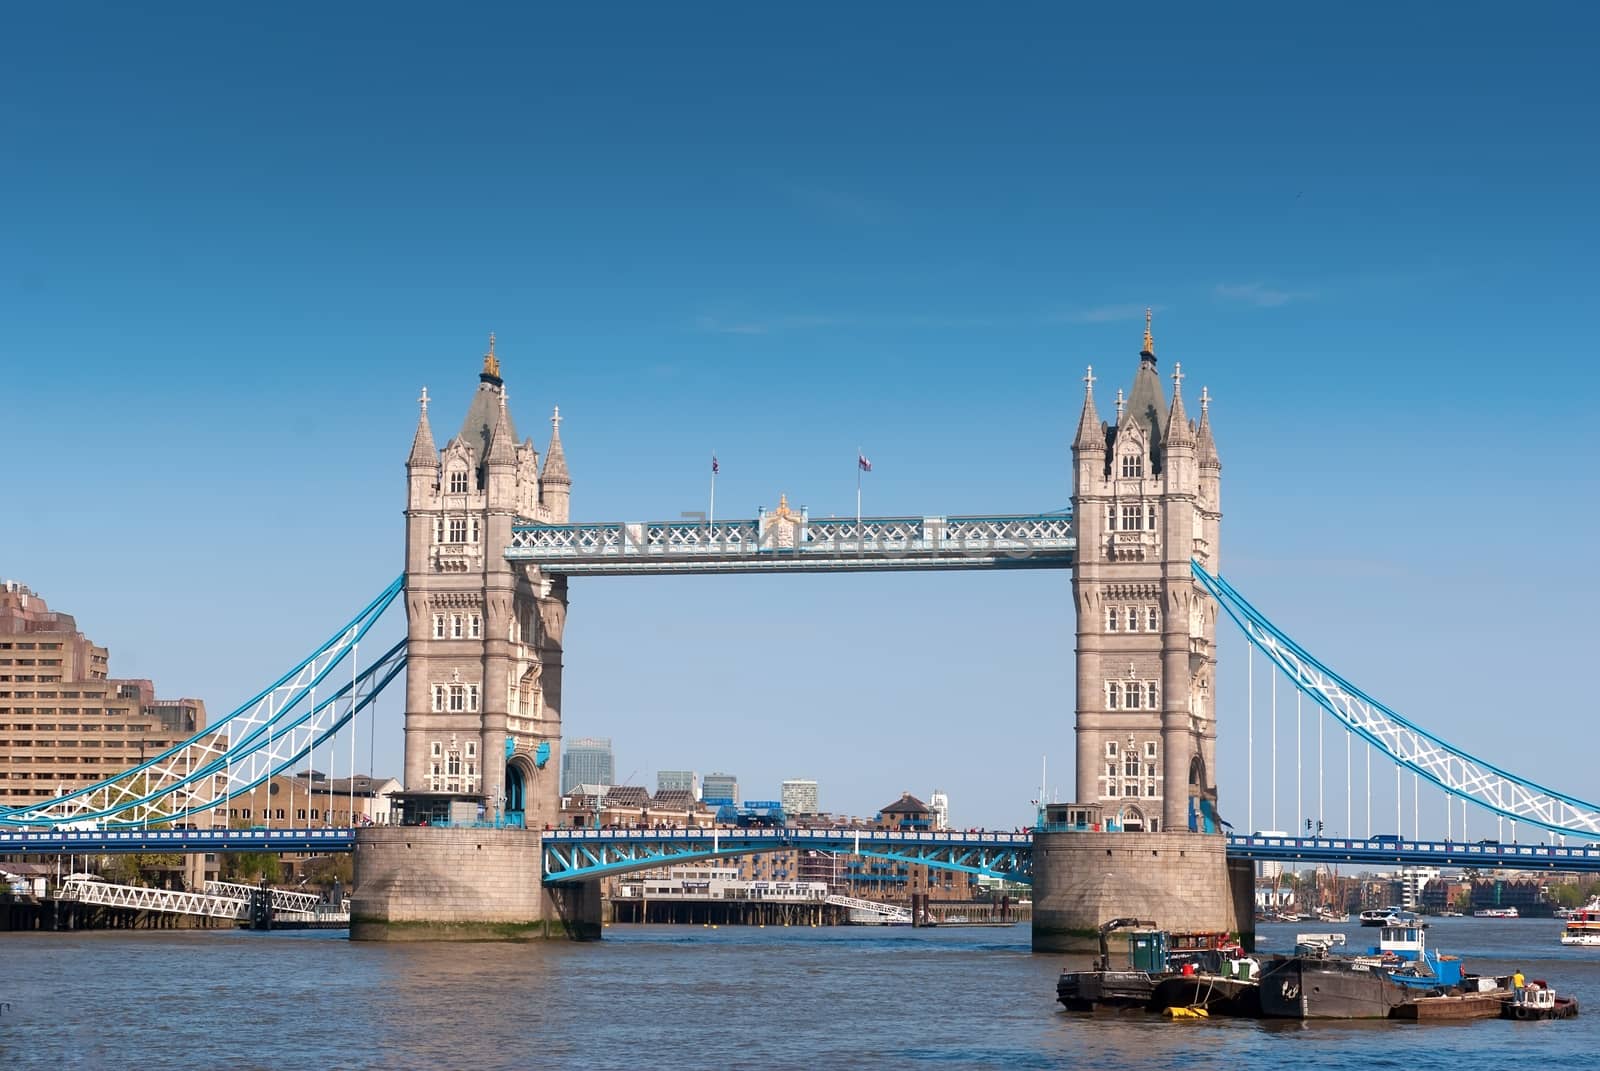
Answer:
<svg viewBox="0 0 1600 1071"><path fill-rule="evenodd" d="M1218 568L1222 463L1208 394L1195 426L1179 365L1171 379L1168 405L1149 312L1115 424L1085 375L1072 443L1077 800L1130 832L1216 832L1216 602L1189 560Z"/></svg>

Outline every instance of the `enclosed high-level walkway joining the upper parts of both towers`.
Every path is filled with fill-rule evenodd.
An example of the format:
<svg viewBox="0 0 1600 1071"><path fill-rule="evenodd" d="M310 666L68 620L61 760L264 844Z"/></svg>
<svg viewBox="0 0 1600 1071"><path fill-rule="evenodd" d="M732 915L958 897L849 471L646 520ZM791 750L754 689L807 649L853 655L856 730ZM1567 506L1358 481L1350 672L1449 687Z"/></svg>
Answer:
<svg viewBox="0 0 1600 1071"><path fill-rule="evenodd" d="M506 559L571 576L1072 568L1069 514L517 523Z"/></svg>

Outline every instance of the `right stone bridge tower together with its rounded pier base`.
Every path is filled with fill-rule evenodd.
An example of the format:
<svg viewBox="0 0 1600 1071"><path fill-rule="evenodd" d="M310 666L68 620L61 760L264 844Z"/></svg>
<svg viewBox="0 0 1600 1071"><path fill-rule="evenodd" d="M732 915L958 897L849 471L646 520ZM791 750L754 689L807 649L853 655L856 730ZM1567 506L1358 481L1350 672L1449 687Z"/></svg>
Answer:
<svg viewBox="0 0 1600 1071"><path fill-rule="evenodd" d="M1222 463L1210 395L1166 402L1149 312L1115 423L1093 370L1072 443L1077 802L1034 836L1034 948L1094 951L1120 917L1237 932L1251 945L1248 863L1227 861L1216 813L1216 602L1189 562L1218 567Z"/></svg>

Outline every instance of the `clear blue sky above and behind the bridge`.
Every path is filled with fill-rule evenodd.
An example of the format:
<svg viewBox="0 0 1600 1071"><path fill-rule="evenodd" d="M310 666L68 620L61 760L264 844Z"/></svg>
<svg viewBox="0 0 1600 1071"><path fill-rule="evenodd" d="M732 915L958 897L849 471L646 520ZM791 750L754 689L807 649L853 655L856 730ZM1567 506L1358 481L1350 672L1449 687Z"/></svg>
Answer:
<svg viewBox="0 0 1600 1071"><path fill-rule="evenodd" d="M453 431L491 330L578 519L704 507L714 448L718 514L848 514L858 445L867 512L1021 512L1152 304L1230 580L1600 796L1590 6L475 6L8 14L0 575L114 674L221 714L392 580L414 399ZM1072 645L1066 575L584 580L565 728L651 788L1024 824L1042 757L1072 796Z"/></svg>

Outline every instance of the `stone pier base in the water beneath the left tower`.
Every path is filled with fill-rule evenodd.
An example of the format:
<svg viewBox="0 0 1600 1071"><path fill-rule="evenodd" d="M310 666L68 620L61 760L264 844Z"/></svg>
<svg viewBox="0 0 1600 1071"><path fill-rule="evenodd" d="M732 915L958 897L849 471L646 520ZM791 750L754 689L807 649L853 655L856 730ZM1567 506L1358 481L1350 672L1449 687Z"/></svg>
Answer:
<svg viewBox="0 0 1600 1071"><path fill-rule="evenodd" d="M534 829L368 826L355 832L355 941L600 937L600 885L547 890Z"/></svg>

